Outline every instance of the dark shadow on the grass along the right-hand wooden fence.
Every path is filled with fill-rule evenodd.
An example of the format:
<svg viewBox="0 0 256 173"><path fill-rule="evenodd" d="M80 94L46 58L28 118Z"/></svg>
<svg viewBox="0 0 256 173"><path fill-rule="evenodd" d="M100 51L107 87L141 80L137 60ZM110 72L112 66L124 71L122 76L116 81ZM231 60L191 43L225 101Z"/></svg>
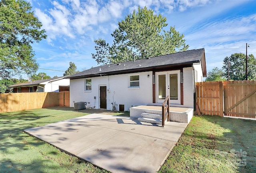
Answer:
<svg viewBox="0 0 256 173"><path fill-rule="evenodd" d="M229 153L234 158L233 163L241 173L256 172L256 121L234 119L218 116L202 116L216 128L225 129L222 134L214 136L215 149ZM205 138L206 135L204 135ZM222 155L225 156L225 155Z"/></svg>

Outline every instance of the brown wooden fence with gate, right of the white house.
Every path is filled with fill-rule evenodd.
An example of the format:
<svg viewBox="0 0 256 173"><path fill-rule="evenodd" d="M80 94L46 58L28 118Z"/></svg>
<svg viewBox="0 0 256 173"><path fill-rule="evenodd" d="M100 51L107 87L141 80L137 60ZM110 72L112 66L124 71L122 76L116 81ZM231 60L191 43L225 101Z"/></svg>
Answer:
<svg viewBox="0 0 256 173"><path fill-rule="evenodd" d="M196 83L196 113L255 118L256 81Z"/></svg>

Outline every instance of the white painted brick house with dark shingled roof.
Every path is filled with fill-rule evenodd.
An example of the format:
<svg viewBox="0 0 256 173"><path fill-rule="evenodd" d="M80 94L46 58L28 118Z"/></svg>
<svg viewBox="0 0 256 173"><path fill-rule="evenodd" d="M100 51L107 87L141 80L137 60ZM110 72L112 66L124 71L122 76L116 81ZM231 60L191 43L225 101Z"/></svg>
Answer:
<svg viewBox="0 0 256 173"><path fill-rule="evenodd" d="M195 82L206 77L204 48L91 68L68 76L70 107L86 102L96 109L129 110L161 105L194 108Z"/></svg>

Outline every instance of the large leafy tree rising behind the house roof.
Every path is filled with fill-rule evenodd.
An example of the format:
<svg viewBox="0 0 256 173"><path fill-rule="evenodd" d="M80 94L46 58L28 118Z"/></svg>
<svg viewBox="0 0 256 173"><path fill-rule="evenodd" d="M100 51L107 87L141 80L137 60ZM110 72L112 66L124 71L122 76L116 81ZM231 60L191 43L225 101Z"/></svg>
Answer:
<svg viewBox="0 0 256 173"><path fill-rule="evenodd" d="M137 13L134 10L118 22L118 28L111 34L112 46L101 38L94 40L96 54L92 54L92 58L98 64L109 64L187 50L184 35L172 26L164 30L167 25L161 14L139 7Z"/></svg>

